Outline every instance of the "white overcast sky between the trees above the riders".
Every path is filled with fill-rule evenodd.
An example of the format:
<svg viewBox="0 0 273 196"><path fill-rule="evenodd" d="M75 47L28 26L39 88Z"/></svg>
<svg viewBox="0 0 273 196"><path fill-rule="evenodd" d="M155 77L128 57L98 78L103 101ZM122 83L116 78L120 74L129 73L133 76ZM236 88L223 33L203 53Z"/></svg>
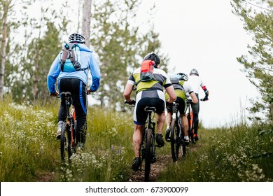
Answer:
<svg viewBox="0 0 273 196"><path fill-rule="evenodd" d="M186 73L195 68L207 85L209 102L200 103L203 125L234 124L258 91L240 71L243 66L236 59L247 54L252 37L232 13L230 1L146 0L139 10L139 21L146 20L153 3L157 11L152 22L163 52L170 57L169 66ZM202 98L203 90L200 94Z"/></svg>

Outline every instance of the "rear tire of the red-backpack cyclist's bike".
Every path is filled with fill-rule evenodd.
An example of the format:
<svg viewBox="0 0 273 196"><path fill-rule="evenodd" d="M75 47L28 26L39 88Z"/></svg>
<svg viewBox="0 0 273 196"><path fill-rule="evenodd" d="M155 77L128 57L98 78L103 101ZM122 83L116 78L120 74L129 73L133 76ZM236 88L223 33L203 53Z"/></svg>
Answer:
<svg viewBox="0 0 273 196"><path fill-rule="evenodd" d="M152 146L152 130L147 129L146 131L146 140L145 140L146 148L145 148L145 174L144 178L145 181L148 182L150 178L150 171L151 171L151 160L152 160L152 151L153 151L153 146Z"/></svg>

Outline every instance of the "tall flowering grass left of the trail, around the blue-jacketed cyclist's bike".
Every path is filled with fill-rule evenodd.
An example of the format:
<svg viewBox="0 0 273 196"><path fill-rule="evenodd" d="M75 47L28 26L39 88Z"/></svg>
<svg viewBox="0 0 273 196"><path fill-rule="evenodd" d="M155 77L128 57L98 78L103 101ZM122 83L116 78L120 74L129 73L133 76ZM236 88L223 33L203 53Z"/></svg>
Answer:
<svg viewBox="0 0 273 196"><path fill-rule="evenodd" d="M90 107L85 149L64 165L55 139L58 100L35 107L0 104L0 181L127 180L134 158L132 114Z"/></svg>

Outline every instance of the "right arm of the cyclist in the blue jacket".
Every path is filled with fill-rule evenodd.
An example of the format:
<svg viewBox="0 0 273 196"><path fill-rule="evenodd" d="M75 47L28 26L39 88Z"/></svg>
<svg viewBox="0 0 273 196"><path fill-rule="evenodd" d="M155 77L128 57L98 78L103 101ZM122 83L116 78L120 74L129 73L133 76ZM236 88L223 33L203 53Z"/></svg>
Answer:
<svg viewBox="0 0 273 196"><path fill-rule="evenodd" d="M99 81L101 80L100 75L101 71L99 69L99 64L97 63L97 60L95 59L93 53L91 54L91 59L90 59L90 72L92 76L92 85L90 86L90 90L92 92L97 91L99 88Z"/></svg>

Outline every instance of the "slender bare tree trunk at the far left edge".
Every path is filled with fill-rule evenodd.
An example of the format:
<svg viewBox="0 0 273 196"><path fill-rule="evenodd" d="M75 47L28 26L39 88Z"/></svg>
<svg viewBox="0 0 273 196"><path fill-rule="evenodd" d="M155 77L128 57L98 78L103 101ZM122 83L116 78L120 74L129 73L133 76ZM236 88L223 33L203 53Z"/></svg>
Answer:
<svg viewBox="0 0 273 196"><path fill-rule="evenodd" d="M3 3L3 28L2 28L2 50L1 50L1 71L0 71L0 99L3 99L3 78L5 75L5 63L6 63L6 37L7 37L7 25L8 25L8 9L11 3L10 1L2 1Z"/></svg>

